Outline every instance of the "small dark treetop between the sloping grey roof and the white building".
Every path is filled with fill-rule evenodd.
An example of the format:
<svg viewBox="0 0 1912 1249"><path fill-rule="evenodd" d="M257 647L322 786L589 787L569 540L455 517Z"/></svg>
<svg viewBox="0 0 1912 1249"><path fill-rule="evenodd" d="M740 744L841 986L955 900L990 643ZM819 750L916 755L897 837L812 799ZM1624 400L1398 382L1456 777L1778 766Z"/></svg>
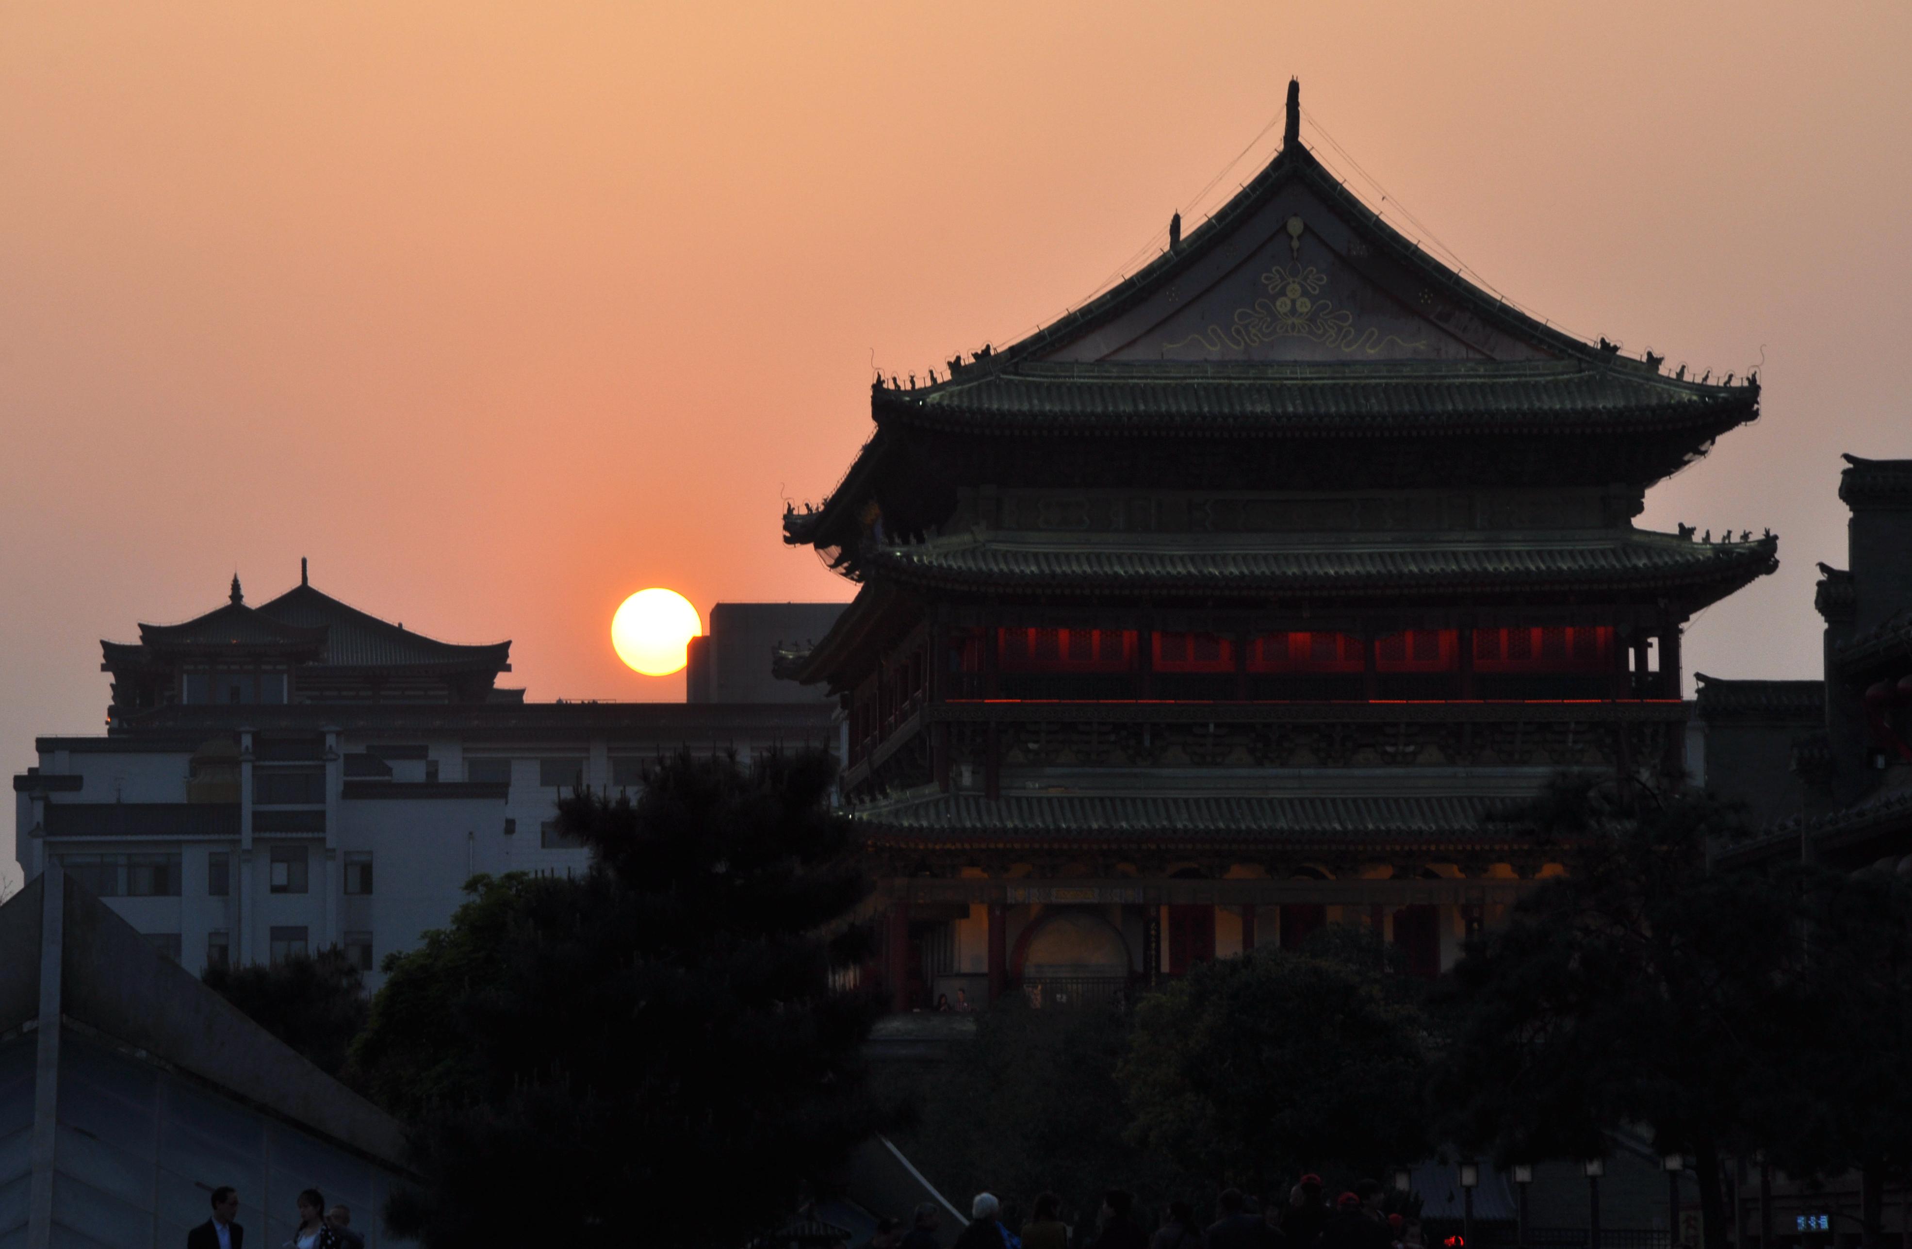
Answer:
<svg viewBox="0 0 1912 1249"><path fill-rule="evenodd" d="M293 954L272 966L206 968L205 981L319 1071L346 1077L346 1054L369 1006L365 977L344 951Z"/></svg>

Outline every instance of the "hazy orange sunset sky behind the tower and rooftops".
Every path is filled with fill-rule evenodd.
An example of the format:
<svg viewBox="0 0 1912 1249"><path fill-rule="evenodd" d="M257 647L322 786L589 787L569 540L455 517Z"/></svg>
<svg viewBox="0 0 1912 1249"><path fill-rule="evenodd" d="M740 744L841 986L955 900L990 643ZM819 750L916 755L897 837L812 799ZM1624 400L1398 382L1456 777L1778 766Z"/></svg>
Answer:
<svg viewBox="0 0 1912 1249"><path fill-rule="evenodd" d="M1304 142L1524 308L1763 356L1763 419L1642 522L1776 530L1688 668L1816 675L1837 455L1912 455L1908 50L1860 2L8 6L4 763L101 731L98 639L302 555L511 637L532 698L683 696L618 603L847 597L778 515L872 360L941 371L1193 228L1291 75Z"/></svg>

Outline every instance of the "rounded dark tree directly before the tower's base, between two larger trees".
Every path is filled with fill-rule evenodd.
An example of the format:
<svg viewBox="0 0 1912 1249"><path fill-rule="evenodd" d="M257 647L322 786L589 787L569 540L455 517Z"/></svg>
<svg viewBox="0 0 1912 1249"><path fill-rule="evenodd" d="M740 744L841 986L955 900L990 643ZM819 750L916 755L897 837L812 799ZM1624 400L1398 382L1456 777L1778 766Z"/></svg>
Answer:
<svg viewBox="0 0 1912 1249"><path fill-rule="evenodd" d="M1210 962L1145 998L1119 1077L1128 1138L1249 1192L1430 1151L1426 1019L1358 930Z"/></svg>

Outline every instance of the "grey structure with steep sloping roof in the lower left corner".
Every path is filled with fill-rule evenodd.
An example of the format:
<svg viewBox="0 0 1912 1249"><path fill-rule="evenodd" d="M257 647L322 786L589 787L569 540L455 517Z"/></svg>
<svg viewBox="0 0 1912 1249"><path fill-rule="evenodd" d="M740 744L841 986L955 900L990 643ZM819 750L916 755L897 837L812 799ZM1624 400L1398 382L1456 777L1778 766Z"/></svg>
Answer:
<svg viewBox="0 0 1912 1249"><path fill-rule="evenodd" d="M0 907L0 1247L185 1243L220 1186L249 1245L296 1197L375 1249L403 1130L157 954L57 859Z"/></svg>

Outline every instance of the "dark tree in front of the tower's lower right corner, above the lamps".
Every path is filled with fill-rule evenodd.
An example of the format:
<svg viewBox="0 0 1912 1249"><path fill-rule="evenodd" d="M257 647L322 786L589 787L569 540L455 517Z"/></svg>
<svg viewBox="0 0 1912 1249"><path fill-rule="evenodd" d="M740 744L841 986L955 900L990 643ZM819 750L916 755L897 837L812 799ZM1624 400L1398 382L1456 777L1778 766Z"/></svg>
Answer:
<svg viewBox="0 0 1912 1249"><path fill-rule="evenodd" d="M1558 782L1528 817L1568 874L1455 968L1436 1096L1463 1146L1507 1161L1595 1157L1652 1125L1696 1159L1723 1245L1719 1157L1746 1148L1784 1083L1772 1023L1793 1004L1799 882L1711 872L1738 809L1688 794Z"/></svg>

